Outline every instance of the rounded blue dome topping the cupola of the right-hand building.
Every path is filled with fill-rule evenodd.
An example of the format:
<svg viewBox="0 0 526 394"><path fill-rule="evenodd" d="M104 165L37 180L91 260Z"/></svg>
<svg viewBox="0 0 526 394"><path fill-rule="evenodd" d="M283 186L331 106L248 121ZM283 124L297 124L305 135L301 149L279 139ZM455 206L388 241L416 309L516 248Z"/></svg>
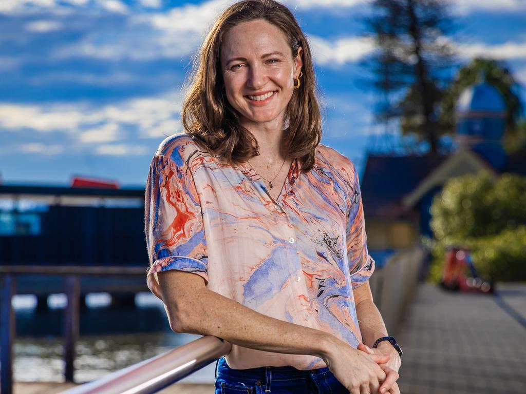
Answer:
<svg viewBox="0 0 526 394"><path fill-rule="evenodd" d="M457 102L457 113L490 112L503 115L506 106L500 92L483 82L462 92Z"/></svg>

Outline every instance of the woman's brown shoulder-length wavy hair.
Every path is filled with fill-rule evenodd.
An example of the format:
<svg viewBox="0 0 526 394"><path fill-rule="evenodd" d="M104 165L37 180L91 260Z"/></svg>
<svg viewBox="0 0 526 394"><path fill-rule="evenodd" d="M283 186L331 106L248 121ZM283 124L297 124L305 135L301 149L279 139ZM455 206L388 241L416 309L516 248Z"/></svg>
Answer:
<svg viewBox="0 0 526 394"><path fill-rule="evenodd" d="M201 148L224 157L230 163L246 162L259 154L254 135L239 122L239 113L232 108L224 91L220 65L222 38L232 27L255 19L264 19L285 34L292 57L303 49L303 77L294 91L286 111L286 151L289 158L298 158L301 170L308 172L316 147L321 140L321 113L312 55L305 34L290 10L273 0L245 0L226 9L214 22L199 53L188 80L181 119L187 132Z"/></svg>

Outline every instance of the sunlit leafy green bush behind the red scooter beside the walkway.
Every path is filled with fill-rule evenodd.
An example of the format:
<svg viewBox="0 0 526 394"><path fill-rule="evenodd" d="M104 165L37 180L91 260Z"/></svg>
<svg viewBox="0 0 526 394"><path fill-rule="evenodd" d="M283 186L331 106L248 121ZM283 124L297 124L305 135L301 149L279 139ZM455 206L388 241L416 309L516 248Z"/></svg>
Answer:
<svg viewBox="0 0 526 394"><path fill-rule="evenodd" d="M487 172L449 180L431 206L433 264L442 274L446 248L471 249L479 274L498 281L526 281L526 177Z"/></svg>

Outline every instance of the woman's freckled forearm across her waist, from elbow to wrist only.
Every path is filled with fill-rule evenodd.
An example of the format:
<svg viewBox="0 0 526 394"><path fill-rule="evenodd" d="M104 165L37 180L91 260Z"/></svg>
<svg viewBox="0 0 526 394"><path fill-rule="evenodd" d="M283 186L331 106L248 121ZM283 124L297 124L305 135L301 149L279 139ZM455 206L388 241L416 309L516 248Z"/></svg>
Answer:
<svg viewBox="0 0 526 394"><path fill-rule="evenodd" d="M284 322L255 312L240 303L202 289L198 295L167 306L177 331L213 335L231 344L278 353L304 354L326 359L337 338L320 330ZM178 310L177 310L178 309Z"/></svg>

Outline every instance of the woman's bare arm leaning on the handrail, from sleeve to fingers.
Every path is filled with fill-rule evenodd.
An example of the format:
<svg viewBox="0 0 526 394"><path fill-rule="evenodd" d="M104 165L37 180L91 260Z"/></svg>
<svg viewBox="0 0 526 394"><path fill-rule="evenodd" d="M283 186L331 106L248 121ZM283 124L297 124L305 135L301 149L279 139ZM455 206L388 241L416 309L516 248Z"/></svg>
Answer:
<svg viewBox="0 0 526 394"><path fill-rule="evenodd" d="M177 333L213 335L257 350L321 357L352 394L377 393L388 356L368 355L320 330L265 316L206 288L184 271L157 273L170 327ZM363 392L368 392L363 391Z"/></svg>

